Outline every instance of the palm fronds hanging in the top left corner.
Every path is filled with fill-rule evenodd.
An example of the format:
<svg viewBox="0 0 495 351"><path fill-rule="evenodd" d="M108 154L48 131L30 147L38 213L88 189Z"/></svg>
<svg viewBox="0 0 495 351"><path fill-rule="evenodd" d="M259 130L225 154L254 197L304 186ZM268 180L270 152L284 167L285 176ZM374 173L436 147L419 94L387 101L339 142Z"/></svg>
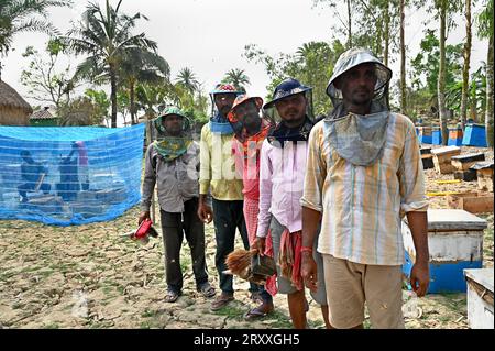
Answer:
<svg viewBox="0 0 495 351"><path fill-rule="evenodd" d="M68 7L72 3L73 0L0 0L0 55L9 52L13 36L18 33L58 34L58 31L47 20L47 9Z"/></svg>

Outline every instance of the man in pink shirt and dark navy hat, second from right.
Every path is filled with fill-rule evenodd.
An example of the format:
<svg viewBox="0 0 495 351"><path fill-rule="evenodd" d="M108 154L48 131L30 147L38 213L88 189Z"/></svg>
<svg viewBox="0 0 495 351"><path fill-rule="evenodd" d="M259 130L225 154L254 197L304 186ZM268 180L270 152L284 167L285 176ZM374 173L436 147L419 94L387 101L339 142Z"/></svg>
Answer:
<svg viewBox="0 0 495 351"><path fill-rule="evenodd" d="M278 293L287 295L294 327L304 329L307 327L308 303L300 275L302 223L299 200L306 171L307 139L314 125L311 88L296 79L285 79L275 88L273 99L264 110L278 123L261 150L256 245L261 253L265 251L270 231L277 262ZM323 281L311 295L321 305L327 322Z"/></svg>

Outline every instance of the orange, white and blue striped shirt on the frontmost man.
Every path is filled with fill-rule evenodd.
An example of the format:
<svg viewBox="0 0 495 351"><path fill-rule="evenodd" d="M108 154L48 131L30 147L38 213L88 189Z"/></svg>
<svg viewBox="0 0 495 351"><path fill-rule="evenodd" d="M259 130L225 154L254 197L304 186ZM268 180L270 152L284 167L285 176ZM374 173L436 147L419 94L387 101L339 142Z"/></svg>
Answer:
<svg viewBox="0 0 495 351"><path fill-rule="evenodd" d="M323 213L318 251L361 264L403 264L400 219L428 207L414 124L391 113L383 155L367 167L341 158L329 133L324 120L311 131L300 201Z"/></svg>

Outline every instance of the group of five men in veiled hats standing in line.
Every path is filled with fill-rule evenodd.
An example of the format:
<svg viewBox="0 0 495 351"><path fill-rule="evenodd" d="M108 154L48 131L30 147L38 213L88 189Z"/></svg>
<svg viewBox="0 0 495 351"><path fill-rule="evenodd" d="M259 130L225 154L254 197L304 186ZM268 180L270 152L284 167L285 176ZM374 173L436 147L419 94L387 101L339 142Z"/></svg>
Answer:
<svg viewBox="0 0 495 351"><path fill-rule="evenodd" d="M338 59L327 94L333 110L312 119L311 88L282 81L270 102L220 84L215 113L194 142L187 117L168 108L156 120L158 139L146 152L142 213L150 217L157 185L167 294L182 294L184 234L197 289L212 298L205 257L205 223L213 221L218 310L234 299L226 257L239 231L244 248L271 255L276 277L251 283L260 304L245 318L274 310L287 295L295 328L308 326L305 286L321 306L327 328L362 328L367 305L375 328L404 328L400 221L407 216L416 246L410 285L428 288L428 202L414 124L388 110L389 68L363 48Z"/></svg>

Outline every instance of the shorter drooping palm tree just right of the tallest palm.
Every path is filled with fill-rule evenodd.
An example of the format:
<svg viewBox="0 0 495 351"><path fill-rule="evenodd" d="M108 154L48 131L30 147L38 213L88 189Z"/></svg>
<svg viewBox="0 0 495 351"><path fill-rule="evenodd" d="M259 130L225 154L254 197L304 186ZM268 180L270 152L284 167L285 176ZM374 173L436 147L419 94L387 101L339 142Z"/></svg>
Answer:
<svg viewBox="0 0 495 351"><path fill-rule="evenodd" d="M129 90L131 123L135 124L135 86L138 83L160 84L168 80L170 67L162 56L140 47L128 50L120 64L120 78Z"/></svg>

